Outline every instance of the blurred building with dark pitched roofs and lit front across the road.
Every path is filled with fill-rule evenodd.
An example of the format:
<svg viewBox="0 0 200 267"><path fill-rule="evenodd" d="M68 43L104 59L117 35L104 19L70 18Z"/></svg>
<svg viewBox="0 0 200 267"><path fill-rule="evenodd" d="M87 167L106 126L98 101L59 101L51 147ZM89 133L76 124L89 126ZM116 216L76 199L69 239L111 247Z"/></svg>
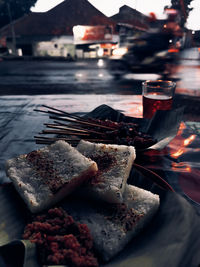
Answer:
<svg viewBox="0 0 200 267"><path fill-rule="evenodd" d="M165 24L163 20L156 23ZM127 35L148 30L149 17L129 6L107 17L87 0L64 1L47 12L30 12L2 27L0 49L15 56L107 57ZM187 39L186 31L184 34L182 45Z"/></svg>

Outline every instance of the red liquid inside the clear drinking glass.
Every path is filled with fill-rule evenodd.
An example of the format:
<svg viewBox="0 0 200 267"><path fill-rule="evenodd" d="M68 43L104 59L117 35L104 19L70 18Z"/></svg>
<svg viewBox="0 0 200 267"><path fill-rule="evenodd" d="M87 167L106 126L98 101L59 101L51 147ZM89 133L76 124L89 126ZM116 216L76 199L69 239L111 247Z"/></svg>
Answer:
<svg viewBox="0 0 200 267"><path fill-rule="evenodd" d="M149 94L143 96L143 117L150 119L156 110L170 110L172 108L172 97L167 95Z"/></svg>

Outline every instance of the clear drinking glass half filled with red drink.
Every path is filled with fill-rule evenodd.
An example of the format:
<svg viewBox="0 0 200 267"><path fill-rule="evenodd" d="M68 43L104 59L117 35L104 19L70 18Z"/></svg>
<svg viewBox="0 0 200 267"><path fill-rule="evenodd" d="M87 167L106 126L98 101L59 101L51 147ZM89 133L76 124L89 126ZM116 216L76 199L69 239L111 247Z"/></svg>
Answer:
<svg viewBox="0 0 200 267"><path fill-rule="evenodd" d="M143 117L150 119L156 110L170 110L176 83L172 81L145 81L142 83Z"/></svg>

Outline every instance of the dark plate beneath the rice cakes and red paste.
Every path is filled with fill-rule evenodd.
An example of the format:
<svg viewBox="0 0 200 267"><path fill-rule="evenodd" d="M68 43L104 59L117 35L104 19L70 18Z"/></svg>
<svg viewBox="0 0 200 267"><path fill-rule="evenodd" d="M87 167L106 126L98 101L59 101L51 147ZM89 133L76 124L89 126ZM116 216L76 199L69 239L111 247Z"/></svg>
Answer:
<svg viewBox="0 0 200 267"><path fill-rule="evenodd" d="M171 186L159 175L143 166L134 164L129 183L158 193L160 208L149 225L128 244L126 249L104 266L198 266L200 218L193 207L183 197L173 192ZM19 263L17 267L39 267L33 245L20 240L29 215L12 184L1 186L0 255L3 255L4 259L9 259L10 267L16 267L17 259L22 258L24 264ZM174 249L178 253L174 253ZM0 259L0 263L3 258Z"/></svg>

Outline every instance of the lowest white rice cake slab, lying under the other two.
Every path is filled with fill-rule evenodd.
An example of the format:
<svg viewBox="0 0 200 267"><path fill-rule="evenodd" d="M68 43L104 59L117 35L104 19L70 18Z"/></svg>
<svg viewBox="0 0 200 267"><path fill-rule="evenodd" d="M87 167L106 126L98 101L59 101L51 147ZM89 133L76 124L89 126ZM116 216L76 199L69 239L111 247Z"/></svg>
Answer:
<svg viewBox="0 0 200 267"><path fill-rule="evenodd" d="M158 195L127 185L124 203L75 201L66 203L64 208L87 224L96 251L103 261L109 261L151 221L159 205Z"/></svg>

